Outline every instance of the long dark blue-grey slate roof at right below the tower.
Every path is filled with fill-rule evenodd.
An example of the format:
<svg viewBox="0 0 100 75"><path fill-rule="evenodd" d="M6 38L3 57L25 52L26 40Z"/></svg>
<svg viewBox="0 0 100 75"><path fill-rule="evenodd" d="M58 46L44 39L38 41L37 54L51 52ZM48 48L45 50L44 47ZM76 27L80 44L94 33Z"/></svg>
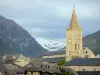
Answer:
<svg viewBox="0 0 100 75"><path fill-rule="evenodd" d="M65 66L100 66L100 58L78 58L66 62Z"/></svg>

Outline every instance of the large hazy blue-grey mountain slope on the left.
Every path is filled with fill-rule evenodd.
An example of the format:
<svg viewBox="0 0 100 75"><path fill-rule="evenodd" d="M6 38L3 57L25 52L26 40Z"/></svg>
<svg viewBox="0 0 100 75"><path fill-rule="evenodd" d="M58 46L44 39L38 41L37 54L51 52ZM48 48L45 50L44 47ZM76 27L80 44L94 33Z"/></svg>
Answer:
<svg viewBox="0 0 100 75"><path fill-rule="evenodd" d="M40 56L46 51L25 29L0 15L0 55Z"/></svg>

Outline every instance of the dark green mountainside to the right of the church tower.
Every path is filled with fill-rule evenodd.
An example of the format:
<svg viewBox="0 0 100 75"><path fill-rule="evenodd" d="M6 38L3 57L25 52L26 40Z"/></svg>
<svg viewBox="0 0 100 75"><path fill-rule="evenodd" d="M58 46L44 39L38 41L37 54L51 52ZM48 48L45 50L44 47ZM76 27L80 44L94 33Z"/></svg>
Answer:
<svg viewBox="0 0 100 75"><path fill-rule="evenodd" d="M83 37L83 46L89 47L95 55L100 54L100 30Z"/></svg>

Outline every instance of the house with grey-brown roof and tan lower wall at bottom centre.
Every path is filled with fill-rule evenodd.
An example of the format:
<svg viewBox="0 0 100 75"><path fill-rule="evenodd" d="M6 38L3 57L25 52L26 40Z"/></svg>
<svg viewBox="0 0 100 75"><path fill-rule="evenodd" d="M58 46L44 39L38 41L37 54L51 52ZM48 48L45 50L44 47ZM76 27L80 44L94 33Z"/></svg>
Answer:
<svg viewBox="0 0 100 75"><path fill-rule="evenodd" d="M28 75L58 75L60 70L58 66L52 64L37 64L30 62L23 67Z"/></svg>

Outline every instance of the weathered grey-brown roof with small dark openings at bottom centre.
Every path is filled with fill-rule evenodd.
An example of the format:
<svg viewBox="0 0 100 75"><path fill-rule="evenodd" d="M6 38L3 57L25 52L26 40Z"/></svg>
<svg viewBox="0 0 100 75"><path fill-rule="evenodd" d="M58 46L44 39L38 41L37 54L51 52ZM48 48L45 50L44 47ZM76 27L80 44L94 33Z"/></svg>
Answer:
<svg viewBox="0 0 100 75"><path fill-rule="evenodd" d="M54 65L49 64L37 64L30 62L28 65L23 67L26 71L41 71L41 72L49 72L49 73L60 73L60 70L57 69Z"/></svg>

